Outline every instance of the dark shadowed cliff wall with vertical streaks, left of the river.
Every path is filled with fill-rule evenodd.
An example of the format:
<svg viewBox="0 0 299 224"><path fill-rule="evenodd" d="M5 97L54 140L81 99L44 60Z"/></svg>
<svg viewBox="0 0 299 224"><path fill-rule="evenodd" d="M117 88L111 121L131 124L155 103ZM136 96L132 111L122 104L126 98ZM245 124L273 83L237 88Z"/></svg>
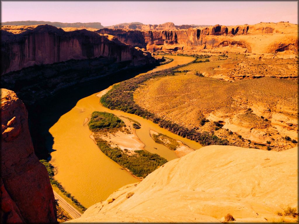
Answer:
<svg viewBox="0 0 299 224"><path fill-rule="evenodd" d="M14 34L1 30L1 74L33 65L53 64L71 59L114 58L134 66L155 60L117 39L88 30L65 32L50 25L22 28Z"/></svg>

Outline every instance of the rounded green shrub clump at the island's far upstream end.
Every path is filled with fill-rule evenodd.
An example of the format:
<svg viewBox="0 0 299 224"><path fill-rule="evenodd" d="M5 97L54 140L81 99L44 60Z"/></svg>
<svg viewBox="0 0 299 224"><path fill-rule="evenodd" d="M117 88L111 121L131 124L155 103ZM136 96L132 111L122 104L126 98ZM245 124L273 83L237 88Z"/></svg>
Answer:
<svg viewBox="0 0 299 224"><path fill-rule="evenodd" d="M99 131L101 129L121 128L125 123L115 116L113 113L94 111L88 127L91 131Z"/></svg>

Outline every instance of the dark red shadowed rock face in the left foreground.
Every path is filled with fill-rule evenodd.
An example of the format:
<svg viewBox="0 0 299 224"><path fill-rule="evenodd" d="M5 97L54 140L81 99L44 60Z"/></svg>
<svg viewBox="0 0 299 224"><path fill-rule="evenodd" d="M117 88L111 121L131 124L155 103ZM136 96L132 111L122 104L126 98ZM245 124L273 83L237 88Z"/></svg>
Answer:
<svg viewBox="0 0 299 224"><path fill-rule="evenodd" d="M56 223L48 172L34 154L25 105L1 89L1 223Z"/></svg>

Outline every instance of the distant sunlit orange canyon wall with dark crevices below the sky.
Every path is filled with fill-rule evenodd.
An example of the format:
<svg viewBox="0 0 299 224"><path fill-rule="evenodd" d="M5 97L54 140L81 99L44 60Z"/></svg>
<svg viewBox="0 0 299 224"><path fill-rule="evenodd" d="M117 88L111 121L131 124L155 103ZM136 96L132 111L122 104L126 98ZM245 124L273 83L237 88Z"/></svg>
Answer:
<svg viewBox="0 0 299 224"><path fill-rule="evenodd" d="M124 43L132 44L133 47L147 45L147 50L150 51L203 50L229 47L239 48L240 51L248 53L277 53L282 51L298 53L298 25L288 22L239 26L215 25L188 29L177 29L174 24L168 24L163 26L163 30L156 28L140 28L140 30L134 31L123 28L120 39ZM101 29L96 32L120 36L120 30ZM127 33L126 37L125 33ZM144 37L144 42L142 38L138 38L141 42L136 42L135 36L141 35Z"/></svg>

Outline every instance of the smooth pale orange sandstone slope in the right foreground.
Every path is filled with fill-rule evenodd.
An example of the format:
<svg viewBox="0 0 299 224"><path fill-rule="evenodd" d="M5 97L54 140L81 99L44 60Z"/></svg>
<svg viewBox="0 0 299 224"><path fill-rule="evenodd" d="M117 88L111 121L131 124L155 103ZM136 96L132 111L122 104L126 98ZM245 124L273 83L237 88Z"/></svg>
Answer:
<svg viewBox="0 0 299 224"><path fill-rule="evenodd" d="M228 213L237 222L279 220L277 211L297 208L297 159L296 148L206 146L120 188L70 222L219 222Z"/></svg>

